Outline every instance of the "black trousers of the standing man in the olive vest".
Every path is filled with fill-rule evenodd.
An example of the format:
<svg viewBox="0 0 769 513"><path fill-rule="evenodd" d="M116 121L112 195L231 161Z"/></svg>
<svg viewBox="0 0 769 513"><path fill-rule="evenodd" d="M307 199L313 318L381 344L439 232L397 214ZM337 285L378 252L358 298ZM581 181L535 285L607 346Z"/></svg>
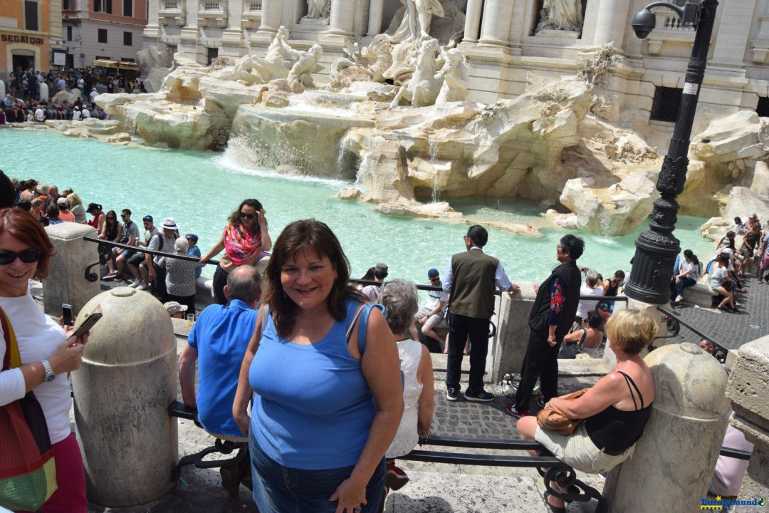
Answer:
<svg viewBox="0 0 769 513"><path fill-rule="evenodd" d="M464 342L470 337L470 383L468 390L476 394L483 390L488 352L488 319L448 314L448 361L446 386L459 391L459 378L464 356Z"/></svg>

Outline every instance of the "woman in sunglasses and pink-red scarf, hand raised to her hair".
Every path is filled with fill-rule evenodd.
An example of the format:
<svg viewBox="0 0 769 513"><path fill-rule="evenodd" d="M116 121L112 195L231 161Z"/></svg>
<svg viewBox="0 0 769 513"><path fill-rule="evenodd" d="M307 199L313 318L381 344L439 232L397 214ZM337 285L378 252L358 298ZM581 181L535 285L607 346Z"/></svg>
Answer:
<svg viewBox="0 0 769 513"><path fill-rule="evenodd" d="M238 265L255 265L272 248L272 240L267 232L265 209L257 199L245 199L235 212L232 212L224 234L211 251L200 259L205 264L222 249L225 255L219 260L214 273L214 301L219 305L227 304L225 285L227 275Z"/></svg>

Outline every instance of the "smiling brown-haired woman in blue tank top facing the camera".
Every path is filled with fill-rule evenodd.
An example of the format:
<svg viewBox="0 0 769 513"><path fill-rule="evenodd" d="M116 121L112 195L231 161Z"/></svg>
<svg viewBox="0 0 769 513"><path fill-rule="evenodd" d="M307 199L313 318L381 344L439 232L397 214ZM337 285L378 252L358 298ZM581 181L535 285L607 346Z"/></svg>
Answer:
<svg viewBox="0 0 769 513"><path fill-rule="evenodd" d="M398 348L349 278L324 223L292 222L275 242L232 407L261 513L362 513L384 497L403 412Z"/></svg>

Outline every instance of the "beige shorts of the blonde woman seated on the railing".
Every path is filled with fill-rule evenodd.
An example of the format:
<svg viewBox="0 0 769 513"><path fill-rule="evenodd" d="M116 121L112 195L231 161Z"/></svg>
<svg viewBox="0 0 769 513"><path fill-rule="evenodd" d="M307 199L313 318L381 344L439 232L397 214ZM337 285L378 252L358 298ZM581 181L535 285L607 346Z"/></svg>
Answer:
<svg viewBox="0 0 769 513"><path fill-rule="evenodd" d="M606 454L603 449L596 447L590 439L584 422L569 436L558 435L554 431L548 431L537 426L534 439L566 465L588 474L598 474L611 470L622 461L630 458L635 449L635 445L631 445L621 455Z"/></svg>

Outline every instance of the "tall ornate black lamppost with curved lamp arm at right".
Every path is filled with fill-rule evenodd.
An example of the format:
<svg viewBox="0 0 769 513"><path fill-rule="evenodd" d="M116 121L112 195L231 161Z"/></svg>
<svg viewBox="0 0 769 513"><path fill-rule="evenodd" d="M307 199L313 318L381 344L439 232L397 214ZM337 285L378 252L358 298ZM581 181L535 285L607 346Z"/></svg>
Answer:
<svg viewBox="0 0 769 513"><path fill-rule="evenodd" d="M630 283L625 288L625 294L628 297L653 305L664 305L670 301L673 265L676 255L681 252L681 245L673 236L678 212L675 198L683 192L684 182L686 182L691 125L694 122L694 113L697 111L697 98L700 96L702 78L705 74L707 49L711 43L718 2L717 0L690 1L682 8L667 2L653 2L633 16L631 25L636 37L643 39L654 30L655 18L651 9L663 6L676 12L681 18L681 25L694 27L696 33L673 138L657 178L657 191L660 192L660 198L654 202L649 229L638 235L636 239Z"/></svg>

